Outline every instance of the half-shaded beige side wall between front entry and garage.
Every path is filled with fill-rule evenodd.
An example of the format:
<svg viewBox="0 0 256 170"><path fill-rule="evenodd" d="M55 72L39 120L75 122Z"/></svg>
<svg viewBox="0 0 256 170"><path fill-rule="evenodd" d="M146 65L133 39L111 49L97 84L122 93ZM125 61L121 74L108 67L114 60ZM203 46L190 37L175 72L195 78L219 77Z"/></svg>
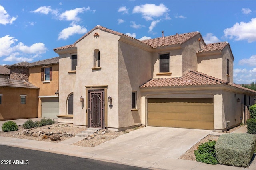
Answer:
<svg viewBox="0 0 256 170"><path fill-rule="evenodd" d="M119 41L118 98L119 127L141 124L140 86L152 78L151 53ZM137 93L138 110L132 110L132 92Z"/></svg>

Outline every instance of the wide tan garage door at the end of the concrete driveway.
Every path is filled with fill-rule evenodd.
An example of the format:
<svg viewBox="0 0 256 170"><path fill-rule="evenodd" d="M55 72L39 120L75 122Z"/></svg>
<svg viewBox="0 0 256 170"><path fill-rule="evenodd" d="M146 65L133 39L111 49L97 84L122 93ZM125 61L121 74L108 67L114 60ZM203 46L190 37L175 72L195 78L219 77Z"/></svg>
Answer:
<svg viewBox="0 0 256 170"><path fill-rule="evenodd" d="M213 130L213 98L148 99L148 125Z"/></svg>

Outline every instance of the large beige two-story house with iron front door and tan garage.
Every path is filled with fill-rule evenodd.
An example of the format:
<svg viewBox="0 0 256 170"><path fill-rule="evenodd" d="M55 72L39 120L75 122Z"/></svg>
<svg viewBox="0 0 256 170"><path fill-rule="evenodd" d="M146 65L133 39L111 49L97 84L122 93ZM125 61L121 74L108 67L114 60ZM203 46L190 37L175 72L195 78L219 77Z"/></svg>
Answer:
<svg viewBox="0 0 256 170"><path fill-rule="evenodd" d="M230 45L206 45L199 32L139 41L98 25L54 51L60 56L59 123L224 131L225 121L240 125L244 105L256 96L233 84Z"/></svg>

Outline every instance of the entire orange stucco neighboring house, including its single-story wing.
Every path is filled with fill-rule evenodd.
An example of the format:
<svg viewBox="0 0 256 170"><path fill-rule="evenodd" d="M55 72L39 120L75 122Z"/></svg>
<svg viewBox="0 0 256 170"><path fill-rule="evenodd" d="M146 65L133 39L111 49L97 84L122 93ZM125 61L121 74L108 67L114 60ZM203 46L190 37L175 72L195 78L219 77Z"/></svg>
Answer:
<svg viewBox="0 0 256 170"><path fill-rule="evenodd" d="M59 114L59 57L8 66L10 80L0 80L0 120Z"/></svg>

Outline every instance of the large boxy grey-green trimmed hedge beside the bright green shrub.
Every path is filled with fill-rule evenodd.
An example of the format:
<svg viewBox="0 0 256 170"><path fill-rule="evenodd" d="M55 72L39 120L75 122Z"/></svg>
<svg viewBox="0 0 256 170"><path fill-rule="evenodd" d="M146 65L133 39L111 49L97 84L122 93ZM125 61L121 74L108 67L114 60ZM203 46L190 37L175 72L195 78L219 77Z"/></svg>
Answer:
<svg viewBox="0 0 256 170"><path fill-rule="evenodd" d="M229 133L216 142L219 164L247 167L254 154L256 136L246 133Z"/></svg>

